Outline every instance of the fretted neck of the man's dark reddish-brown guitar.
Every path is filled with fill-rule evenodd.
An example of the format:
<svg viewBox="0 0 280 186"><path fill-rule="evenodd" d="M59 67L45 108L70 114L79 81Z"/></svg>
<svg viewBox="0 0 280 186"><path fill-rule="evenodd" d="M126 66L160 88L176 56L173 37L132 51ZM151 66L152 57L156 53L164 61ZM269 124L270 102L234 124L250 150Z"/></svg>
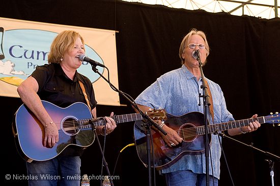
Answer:
<svg viewBox="0 0 280 186"><path fill-rule="evenodd" d="M214 133L216 131L224 131L224 130L248 126L249 123L254 121L258 121L260 124L266 123L265 117L259 117L259 118L250 118L245 120L237 120L237 121L231 121L226 123L213 124L213 125L208 125L207 127L208 134ZM205 126L199 126L196 128L197 128L198 135L205 134Z"/></svg>

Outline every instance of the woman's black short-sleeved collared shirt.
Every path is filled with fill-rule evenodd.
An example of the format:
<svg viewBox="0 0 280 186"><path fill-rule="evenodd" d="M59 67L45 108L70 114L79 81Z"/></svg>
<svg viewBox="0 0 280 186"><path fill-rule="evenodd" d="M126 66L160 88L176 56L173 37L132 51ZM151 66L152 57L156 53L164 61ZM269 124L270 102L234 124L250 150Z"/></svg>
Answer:
<svg viewBox="0 0 280 186"><path fill-rule="evenodd" d="M85 86L91 109L95 108L97 104L90 79L77 71L75 72L74 79L71 80L66 76L60 64L51 63L37 66L31 76L38 82L39 89L37 94L41 100L51 102L63 108L75 102L87 104L79 85L80 80ZM81 156L82 153L82 147L69 145L60 153L60 156Z"/></svg>

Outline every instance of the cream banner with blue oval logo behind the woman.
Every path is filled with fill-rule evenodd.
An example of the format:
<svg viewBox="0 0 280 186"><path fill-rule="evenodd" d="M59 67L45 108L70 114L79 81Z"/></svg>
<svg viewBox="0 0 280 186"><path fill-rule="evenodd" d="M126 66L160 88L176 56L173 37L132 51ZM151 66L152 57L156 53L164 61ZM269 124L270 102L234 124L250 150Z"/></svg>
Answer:
<svg viewBox="0 0 280 186"><path fill-rule="evenodd" d="M110 71L110 82L118 88L116 36L114 30L104 30L0 17L0 96L19 97L16 89L35 70L47 64L50 45L58 33L75 30L85 40L86 55L104 64ZM98 71L108 78L107 70ZM93 83L98 104L120 105L119 95L87 62L77 69Z"/></svg>

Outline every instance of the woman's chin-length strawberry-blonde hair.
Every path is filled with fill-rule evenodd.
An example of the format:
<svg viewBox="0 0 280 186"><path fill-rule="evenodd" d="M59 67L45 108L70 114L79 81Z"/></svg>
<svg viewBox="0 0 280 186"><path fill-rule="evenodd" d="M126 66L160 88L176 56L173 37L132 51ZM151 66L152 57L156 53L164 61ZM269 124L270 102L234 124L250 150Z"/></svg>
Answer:
<svg viewBox="0 0 280 186"><path fill-rule="evenodd" d="M60 32L54 38L50 46L48 63L60 63L63 60L64 53L73 48L77 38L80 38L82 45L85 45L82 36L78 32L73 30L65 30Z"/></svg>

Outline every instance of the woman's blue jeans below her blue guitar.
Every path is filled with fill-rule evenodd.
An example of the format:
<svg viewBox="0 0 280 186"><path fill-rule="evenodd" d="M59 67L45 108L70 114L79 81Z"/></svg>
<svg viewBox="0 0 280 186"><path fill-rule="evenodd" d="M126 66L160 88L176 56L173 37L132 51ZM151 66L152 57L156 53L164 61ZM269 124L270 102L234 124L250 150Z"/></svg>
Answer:
<svg viewBox="0 0 280 186"><path fill-rule="evenodd" d="M55 157L47 161L26 162L29 185L80 185L80 157Z"/></svg>

